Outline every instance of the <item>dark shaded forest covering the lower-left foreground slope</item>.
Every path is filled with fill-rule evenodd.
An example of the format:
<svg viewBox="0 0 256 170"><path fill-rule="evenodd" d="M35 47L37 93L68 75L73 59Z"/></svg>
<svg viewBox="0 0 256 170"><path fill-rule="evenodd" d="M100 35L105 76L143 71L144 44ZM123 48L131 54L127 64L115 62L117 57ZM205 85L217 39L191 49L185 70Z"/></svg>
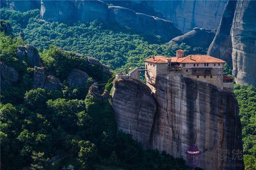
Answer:
<svg viewBox="0 0 256 170"><path fill-rule="evenodd" d="M1 90L3 169L187 168L183 159L175 159L157 150L144 151L131 135L117 130L110 101L87 94L92 82L88 81L87 85L79 88L65 84L72 68L86 71L95 81L102 81L102 77L111 79L111 75L106 77L97 72L97 68L87 65L83 57L51 46L41 53L40 66L60 77L64 86L55 91L32 89L34 68L29 67L26 59L19 62L16 53L17 45L25 42L3 32L0 40L0 48L4 49L0 53L1 62L15 68L19 74L16 83ZM67 67L67 63L72 65ZM112 80L106 85L106 90L111 89Z"/></svg>

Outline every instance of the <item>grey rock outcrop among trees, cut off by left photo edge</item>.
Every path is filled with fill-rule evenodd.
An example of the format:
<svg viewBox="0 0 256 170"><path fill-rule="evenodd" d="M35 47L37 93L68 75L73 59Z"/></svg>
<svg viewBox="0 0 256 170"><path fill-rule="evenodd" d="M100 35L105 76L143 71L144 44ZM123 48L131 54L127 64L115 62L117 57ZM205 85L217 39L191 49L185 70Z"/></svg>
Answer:
<svg viewBox="0 0 256 170"><path fill-rule="evenodd" d="M19 79L19 74L15 70L15 68L10 67L6 65L4 62L0 62L0 68L1 68L1 90L5 90L10 85L12 85L12 82L17 82Z"/></svg>

